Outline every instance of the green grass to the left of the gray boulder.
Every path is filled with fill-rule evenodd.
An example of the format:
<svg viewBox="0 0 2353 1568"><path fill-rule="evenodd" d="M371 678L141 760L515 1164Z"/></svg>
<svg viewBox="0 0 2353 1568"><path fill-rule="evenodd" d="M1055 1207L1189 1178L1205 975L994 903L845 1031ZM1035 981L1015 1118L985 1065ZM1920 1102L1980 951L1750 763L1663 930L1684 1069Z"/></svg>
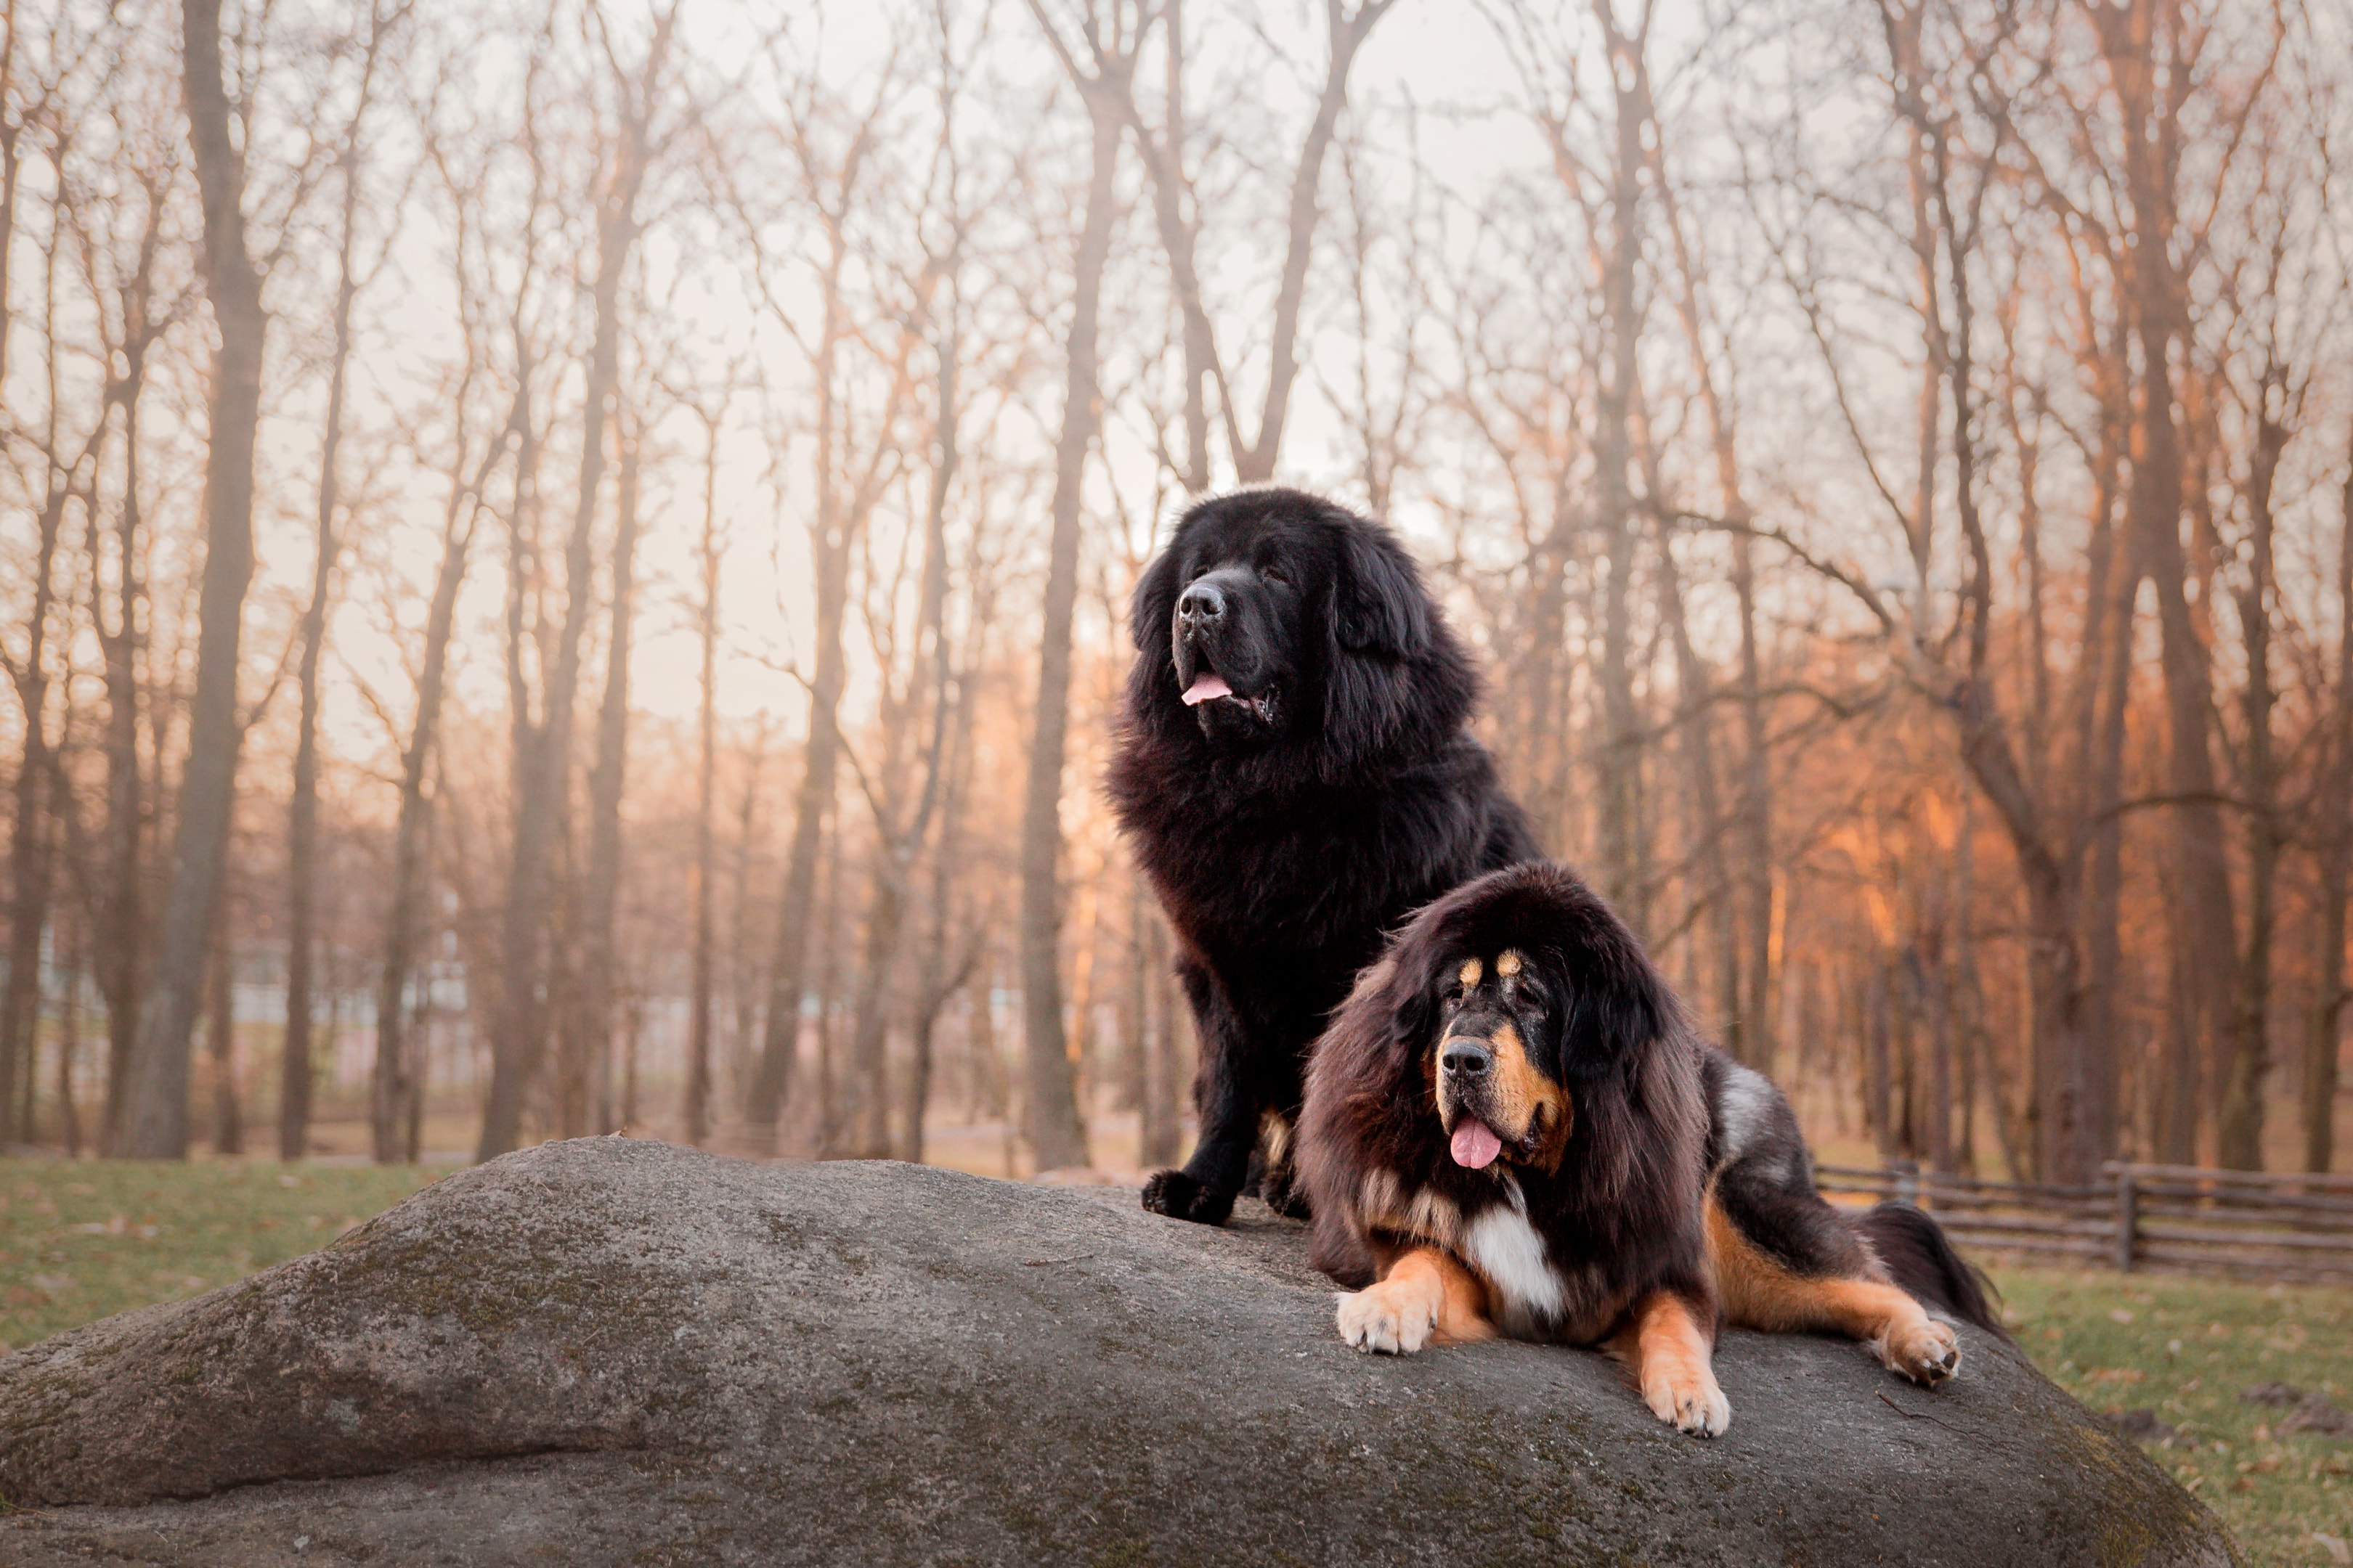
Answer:
<svg viewBox="0 0 2353 1568"><path fill-rule="evenodd" d="M416 1166L0 1159L0 1354L308 1253L433 1175Z"/></svg>

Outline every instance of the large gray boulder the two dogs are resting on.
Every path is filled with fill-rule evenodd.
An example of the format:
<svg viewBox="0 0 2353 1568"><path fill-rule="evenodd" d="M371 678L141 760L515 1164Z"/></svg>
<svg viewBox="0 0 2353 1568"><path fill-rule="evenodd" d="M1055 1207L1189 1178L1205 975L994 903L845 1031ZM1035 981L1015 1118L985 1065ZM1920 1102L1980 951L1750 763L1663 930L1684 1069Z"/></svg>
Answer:
<svg viewBox="0 0 2353 1568"><path fill-rule="evenodd" d="M0 1361L0 1563L2231 1563L2017 1352L1393 1361L1301 1227L593 1138Z"/></svg>

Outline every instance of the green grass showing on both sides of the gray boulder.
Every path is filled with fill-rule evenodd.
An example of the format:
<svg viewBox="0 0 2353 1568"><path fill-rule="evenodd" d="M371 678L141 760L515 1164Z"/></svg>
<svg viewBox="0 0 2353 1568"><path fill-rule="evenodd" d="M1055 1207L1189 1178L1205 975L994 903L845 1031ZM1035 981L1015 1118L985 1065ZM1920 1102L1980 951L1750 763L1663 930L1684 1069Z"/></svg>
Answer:
<svg viewBox="0 0 2353 1568"><path fill-rule="evenodd" d="M0 1161L0 1352L181 1300L306 1253L424 1187L407 1166ZM2353 1542L2353 1439L2280 1434L2247 1403L2292 1382L2353 1408L2353 1291L2108 1269L1998 1269L2019 1342L2094 1410L2177 1429L2148 1455L2261 1568L2332 1568Z"/></svg>

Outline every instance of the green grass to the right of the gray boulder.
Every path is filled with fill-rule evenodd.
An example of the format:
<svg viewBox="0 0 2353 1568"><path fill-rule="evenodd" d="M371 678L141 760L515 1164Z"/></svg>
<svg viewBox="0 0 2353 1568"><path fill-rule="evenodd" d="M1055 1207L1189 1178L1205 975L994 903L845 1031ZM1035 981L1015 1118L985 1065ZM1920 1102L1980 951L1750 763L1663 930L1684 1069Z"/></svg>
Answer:
<svg viewBox="0 0 2353 1568"><path fill-rule="evenodd" d="M2353 1439L2280 1432L2242 1394L2289 1382L2353 1410L2353 1291L2113 1269L1995 1269L2012 1331L2094 1410L2174 1429L2151 1460L2207 1502L2249 1563L2327 1568L2353 1547Z"/></svg>

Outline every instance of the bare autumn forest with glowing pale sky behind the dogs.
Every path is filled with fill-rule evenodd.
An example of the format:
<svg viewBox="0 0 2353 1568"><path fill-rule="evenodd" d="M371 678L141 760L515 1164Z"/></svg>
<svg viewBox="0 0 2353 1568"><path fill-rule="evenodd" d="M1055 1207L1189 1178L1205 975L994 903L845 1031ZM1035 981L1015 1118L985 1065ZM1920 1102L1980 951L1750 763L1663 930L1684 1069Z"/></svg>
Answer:
<svg viewBox="0 0 2353 1568"><path fill-rule="evenodd" d="M2341 0L9 0L0 1143L1186 1138L1188 496L1817 1140L2344 1164Z"/></svg>

